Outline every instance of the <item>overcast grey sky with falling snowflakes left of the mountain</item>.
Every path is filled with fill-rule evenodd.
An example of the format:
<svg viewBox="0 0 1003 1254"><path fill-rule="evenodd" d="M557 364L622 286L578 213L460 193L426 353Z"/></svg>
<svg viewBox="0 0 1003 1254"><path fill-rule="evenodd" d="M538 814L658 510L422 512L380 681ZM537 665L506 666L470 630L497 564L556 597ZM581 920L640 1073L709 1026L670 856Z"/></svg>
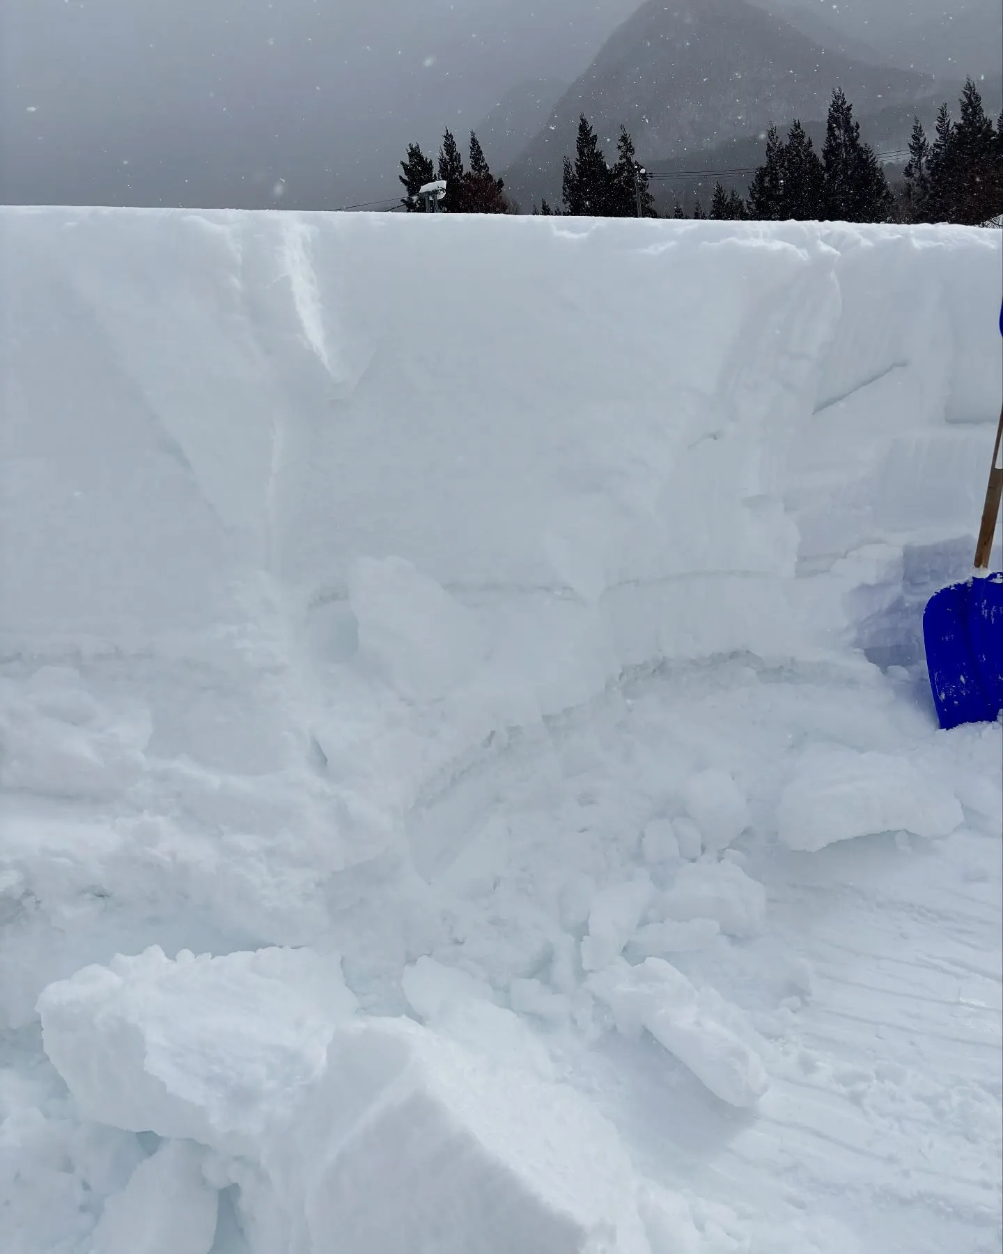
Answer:
<svg viewBox="0 0 1003 1254"><path fill-rule="evenodd" d="M858 33L945 9L945 0L782 4L816 6ZM0 194L258 204L278 189L285 203L326 207L394 194L410 139L431 148L445 124L465 138L520 80L570 82L636 8L3 0Z"/></svg>

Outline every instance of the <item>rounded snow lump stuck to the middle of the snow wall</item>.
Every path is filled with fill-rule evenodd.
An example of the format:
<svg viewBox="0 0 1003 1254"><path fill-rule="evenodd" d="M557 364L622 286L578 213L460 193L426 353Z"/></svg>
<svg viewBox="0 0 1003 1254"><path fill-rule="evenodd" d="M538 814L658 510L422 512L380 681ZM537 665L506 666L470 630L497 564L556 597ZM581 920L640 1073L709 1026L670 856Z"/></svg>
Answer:
<svg viewBox="0 0 1003 1254"><path fill-rule="evenodd" d="M401 557L357 558L349 598L360 652L406 697L441 697L484 661L485 642L470 611Z"/></svg>

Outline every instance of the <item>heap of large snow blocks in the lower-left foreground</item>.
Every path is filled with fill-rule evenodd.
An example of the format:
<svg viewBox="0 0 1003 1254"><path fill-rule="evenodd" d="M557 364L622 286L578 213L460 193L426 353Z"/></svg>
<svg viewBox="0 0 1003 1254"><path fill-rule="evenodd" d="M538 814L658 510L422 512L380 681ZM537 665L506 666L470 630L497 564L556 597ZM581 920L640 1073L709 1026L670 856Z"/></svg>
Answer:
<svg viewBox="0 0 1003 1254"><path fill-rule="evenodd" d="M154 948L39 1009L81 1115L172 1139L105 1208L109 1254L144 1229L149 1249L208 1254L207 1176L241 1184L252 1249L648 1254L629 1161L587 1101L407 1021L349 1023L316 954Z"/></svg>

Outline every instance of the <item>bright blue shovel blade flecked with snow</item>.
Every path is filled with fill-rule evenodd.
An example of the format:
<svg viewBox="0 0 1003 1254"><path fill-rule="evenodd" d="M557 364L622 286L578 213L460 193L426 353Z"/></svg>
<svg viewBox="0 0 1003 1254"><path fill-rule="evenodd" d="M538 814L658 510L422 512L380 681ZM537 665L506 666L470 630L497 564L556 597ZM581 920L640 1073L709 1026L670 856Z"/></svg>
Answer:
<svg viewBox="0 0 1003 1254"><path fill-rule="evenodd" d="M923 640L940 726L992 722L1003 709L1003 573L934 593Z"/></svg>

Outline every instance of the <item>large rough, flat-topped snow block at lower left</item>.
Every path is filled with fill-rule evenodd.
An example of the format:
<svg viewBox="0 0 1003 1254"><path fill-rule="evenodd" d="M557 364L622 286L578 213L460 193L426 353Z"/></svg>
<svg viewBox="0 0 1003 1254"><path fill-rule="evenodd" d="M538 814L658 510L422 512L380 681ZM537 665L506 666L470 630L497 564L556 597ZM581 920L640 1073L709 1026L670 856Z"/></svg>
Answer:
<svg viewBox="0 0 1003 1254"><path fill-rule="evenodd" d="M239 1154L322 1073L356 1004L337 957L182 951L172 962L154 946L49 984L38 1009L84 1117Z"/></svg>

